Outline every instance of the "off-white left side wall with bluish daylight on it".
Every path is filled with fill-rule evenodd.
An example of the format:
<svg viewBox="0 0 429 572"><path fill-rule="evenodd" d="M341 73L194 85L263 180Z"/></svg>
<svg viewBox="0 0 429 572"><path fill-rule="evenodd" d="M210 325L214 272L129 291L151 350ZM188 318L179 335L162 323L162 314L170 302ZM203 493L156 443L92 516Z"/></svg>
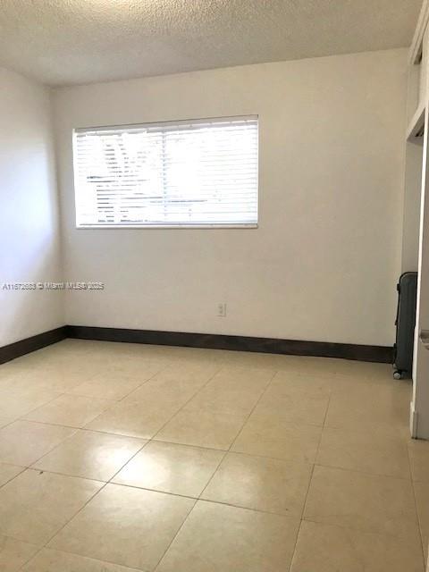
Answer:
<svg viewBox="0 0 429 572"><path fill-rule="evenodd" d="M63 325L61 292L4 282L61 280L49 92L0 68L0 346Z"/></svg>

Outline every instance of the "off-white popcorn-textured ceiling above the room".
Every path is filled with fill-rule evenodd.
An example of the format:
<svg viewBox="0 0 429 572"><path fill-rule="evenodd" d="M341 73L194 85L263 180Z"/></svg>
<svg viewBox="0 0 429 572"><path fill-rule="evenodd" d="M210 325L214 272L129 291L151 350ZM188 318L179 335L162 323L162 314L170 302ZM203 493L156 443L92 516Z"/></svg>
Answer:
<svg viewBox="0 0 429 572"><path fill-rule="evenodd" d="M0 65L50 85L409 46L421 0L0 0Z"/></svg>

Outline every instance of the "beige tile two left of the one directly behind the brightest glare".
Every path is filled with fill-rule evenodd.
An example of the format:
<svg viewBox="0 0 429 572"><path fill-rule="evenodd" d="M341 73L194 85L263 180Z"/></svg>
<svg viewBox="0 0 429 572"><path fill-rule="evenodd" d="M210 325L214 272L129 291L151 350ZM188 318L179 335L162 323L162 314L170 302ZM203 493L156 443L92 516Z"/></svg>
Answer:
<svg viewBox="0 0 429 572"><path fill-rule="evenodd" d="M46 405L34 409L25 416L25 419L53 425L83 427L114 403L114 401L99 400L82 395L64 394L46 403Z"/></svg>

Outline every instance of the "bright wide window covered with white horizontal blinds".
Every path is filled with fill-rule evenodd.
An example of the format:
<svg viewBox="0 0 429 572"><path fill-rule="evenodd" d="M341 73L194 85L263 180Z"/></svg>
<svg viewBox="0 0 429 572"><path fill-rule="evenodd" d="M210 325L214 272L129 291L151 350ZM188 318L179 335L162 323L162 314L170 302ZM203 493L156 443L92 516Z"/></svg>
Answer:
<svg viewBox="0 0 429 572"><path fill-rule="evenodd" d="M78 129L78 227L257 226L257 117Z"/></svg>

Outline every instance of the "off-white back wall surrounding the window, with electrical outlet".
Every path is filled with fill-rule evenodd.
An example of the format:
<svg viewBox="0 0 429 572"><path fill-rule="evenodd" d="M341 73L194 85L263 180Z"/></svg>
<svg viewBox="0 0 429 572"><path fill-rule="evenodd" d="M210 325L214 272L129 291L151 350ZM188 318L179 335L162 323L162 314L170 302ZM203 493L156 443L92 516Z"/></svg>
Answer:
<svg viewBox="0 0 429 572"><path fill-rule="evenodd" d="M391 344L406 50L55 92L68 324ZM257 230L75 230L74 127L259 114ZM226 318L216 317L227 302Z"/></svg>

